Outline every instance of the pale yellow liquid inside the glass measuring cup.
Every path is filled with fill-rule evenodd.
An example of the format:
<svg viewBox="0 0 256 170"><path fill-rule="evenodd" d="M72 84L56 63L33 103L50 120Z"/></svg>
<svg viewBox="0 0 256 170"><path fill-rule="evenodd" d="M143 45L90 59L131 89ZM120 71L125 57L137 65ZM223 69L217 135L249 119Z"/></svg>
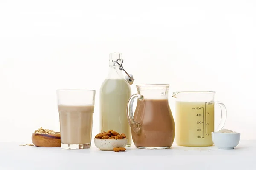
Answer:
<svg viewBox="0 0 256 170"><path fill-rule="evenodd" d="M212 146L214 102L176 102L175 140L180 146Z"/></svg>

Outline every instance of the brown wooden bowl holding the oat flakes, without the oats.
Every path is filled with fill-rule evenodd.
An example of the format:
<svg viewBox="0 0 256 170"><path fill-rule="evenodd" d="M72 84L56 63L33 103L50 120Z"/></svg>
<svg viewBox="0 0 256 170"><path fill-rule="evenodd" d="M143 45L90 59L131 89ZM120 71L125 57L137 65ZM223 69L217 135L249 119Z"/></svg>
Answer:
<svg viewBox="0 0 256 170"><path fill-rule="evenodd" d="M37 147L61 147L61 135L32 133L32 142Z"/></svg>

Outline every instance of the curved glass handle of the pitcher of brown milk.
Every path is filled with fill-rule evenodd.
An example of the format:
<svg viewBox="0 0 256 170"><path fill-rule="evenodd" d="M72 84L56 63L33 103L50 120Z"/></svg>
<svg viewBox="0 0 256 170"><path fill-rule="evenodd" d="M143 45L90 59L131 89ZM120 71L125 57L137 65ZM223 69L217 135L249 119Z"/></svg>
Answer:
<svg viewBox="0 0 256 170"><path fill-rule="evenodd" d="M130 99L128 101L128 104L127 104L126 114L127 114L127 119L128 119L130 127L134 130L135 133L139 134L140 133L140 123L135 122L134 117L133 117L134 114L133 114L133 111L132 111L132 107L133 107L135 98L137 98L139 100L142 100L143 96L140 95L140 94L133 94L130 97Z"/></svg>

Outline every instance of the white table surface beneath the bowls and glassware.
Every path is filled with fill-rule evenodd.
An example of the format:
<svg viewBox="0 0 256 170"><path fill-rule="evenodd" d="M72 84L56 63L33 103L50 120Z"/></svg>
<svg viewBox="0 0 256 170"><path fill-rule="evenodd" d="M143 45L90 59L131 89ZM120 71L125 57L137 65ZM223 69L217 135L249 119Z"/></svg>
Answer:
<svg viewBox="0 0 256 170"><path fill-rule="evenodd" d="M125 152L91 149L63 150L0 142L0 170L256 170L256 141L240 141L233 150L180 147ZM116 168L114 168L116 167Z"/></svg>

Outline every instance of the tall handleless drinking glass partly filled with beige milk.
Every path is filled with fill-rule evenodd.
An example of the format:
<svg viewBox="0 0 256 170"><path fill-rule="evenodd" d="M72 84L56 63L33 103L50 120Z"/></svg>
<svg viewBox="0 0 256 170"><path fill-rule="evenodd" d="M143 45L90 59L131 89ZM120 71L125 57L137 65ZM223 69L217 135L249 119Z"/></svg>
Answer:
<svg viewBox="0 0 256 170"><path fill-rule="evenodd" d="M62 149L91 147L95 90L57 90Z"/></svg>

